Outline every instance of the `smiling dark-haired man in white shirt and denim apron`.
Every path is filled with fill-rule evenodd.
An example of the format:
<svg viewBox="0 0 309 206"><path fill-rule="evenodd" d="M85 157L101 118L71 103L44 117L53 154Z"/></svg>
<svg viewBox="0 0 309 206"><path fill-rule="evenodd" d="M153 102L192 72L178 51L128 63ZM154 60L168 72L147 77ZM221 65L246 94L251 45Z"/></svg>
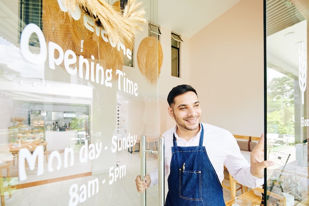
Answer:
<svg viewBox="0 0 309 206"><path fill-rule="evenodd" d="M165 175L169 173L165 206L225 206L224 165L240 184L255 188L264 183L264 168L273 165L264 161L264 135L251 152L250 165L229 131L200 123L202 112L192 86L174 87L167 101L176 126L162 134ZM158 182L157 169L144 180L135 180L140 193Z"/></svg>

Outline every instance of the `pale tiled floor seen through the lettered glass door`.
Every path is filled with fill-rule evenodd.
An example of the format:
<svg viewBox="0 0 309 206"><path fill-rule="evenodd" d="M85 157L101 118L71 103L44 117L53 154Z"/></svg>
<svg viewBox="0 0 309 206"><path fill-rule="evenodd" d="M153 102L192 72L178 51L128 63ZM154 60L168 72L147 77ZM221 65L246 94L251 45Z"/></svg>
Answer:
<svg viewBox="0 0 309 206"><path fill-rule="evenodd" d="M6 206L141 206L141 195L136 191L135 178L140 173L139 153L131 154L128 151L117 153L117 162L126 165L126 174L123 178L118 179L112 185L108 183L99 184L98 193L92 195L92 191L88 194L82 192L77 198L70 196L70 187L77 184L82 190L87 187L88 181L96 177L98 179L106 179L108 181L109 174L99 174L65 180L55 183L43 184L39 186L18 189L12 192L9 198L5 194ZM157 165L155 155L149 155L147 161L147 172ZM84 186L82 186L84 185ZM165 188L167 183L165 182ZM74 193L74 190L72 190ZM158 205L158 187L152 186L147 189L147 206ZM229 190L224 188L225 201L231 199ZM78 201L79 200L79 201Z"/></svg>

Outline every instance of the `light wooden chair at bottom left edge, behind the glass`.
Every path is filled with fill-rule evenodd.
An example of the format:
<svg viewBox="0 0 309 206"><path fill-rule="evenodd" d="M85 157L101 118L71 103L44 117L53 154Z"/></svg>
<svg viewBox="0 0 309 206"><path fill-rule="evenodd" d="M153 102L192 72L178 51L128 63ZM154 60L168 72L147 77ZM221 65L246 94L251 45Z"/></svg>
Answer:
<svg viewBox="0 0 309 206"><path fill-rule="evenodd" d="M0 165L0 194L1 194L1 206L5 206L4 203L4 193L8 192L9 197L12 197L12 190L16 189L14 186L11 186L11 175L10 175L10 166L12 161L5 162L3 165ZM3 177L2 169L6 169L6 177ZM4 180L6 178L6 180ZM4 186L4 182L7 181L7 186Z"/></svg>

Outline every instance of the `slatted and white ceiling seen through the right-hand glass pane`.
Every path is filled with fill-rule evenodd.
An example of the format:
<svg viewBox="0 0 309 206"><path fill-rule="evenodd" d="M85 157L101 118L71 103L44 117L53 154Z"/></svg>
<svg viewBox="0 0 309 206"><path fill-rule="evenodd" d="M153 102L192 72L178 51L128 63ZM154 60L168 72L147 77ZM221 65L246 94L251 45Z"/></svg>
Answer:
<svg viewBox="0 0 309 206"><path fill-rule="evenodd" d="M307 3L293 2L267 0L267 66L298 77L299 49L307 51L307 21L300 10Z"/></svg>

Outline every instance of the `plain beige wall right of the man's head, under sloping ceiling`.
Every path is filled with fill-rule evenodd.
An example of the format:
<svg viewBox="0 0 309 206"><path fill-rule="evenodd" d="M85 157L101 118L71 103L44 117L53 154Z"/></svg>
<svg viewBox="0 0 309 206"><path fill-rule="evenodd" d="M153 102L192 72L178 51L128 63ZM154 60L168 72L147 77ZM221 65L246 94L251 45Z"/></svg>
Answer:
<svg viewBox="0 0 309 206"><path fill-rule="evenodd" d="M203 122L233 134L263 133L263 48L261 0L241 0L190 39L190 83Z"/></svg>

